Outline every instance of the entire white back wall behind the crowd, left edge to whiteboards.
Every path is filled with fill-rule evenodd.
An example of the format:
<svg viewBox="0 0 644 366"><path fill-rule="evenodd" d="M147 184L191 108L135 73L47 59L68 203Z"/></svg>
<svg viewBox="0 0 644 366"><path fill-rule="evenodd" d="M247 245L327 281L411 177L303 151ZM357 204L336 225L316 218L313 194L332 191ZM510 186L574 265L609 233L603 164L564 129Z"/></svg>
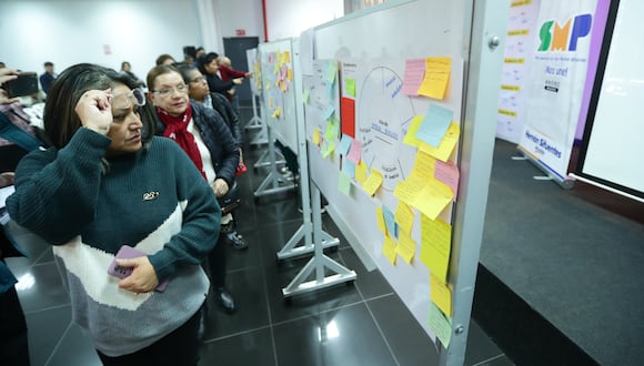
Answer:
<svg viewBox="0 0 644 366"><path fill-rule="evenodd" d="M299 37L340 18L344 0L265 0L269 40ZM183 45L223 50L237 29L264 41L262 0L0 0L0 61L24 71L79 62L119 70L130 61L144 79L161 53ZM109 52L108 52L109 51Z"/></svg>

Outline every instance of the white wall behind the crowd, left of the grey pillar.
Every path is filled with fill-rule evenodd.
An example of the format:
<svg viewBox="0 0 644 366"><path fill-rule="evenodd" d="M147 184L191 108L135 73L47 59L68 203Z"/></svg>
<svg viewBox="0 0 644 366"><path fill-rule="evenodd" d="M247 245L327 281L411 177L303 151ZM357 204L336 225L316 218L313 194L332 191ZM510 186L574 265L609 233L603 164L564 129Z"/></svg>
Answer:
<svg viewBox="0 0 644 366"><path fill-rule="evenodd" d="M2 0L0 61L24 71L56 71L78 62L114 68L130 61L145 78L161 53L183 58L183 45L201 45L193 0ZM109 48L110 54L105 52Z"/></svg>

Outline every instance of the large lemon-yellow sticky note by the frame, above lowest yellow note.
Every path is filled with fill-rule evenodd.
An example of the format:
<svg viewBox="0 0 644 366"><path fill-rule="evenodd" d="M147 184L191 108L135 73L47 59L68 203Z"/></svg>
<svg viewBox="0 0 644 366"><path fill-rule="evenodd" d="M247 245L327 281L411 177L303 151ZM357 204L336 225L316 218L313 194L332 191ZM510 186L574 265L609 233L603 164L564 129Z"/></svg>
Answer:
<svg viewBox="0 0 644 366"><path fill-rule="evenodd" d="M452 251L452 225L441 218L430 220L422 215L421 262L443 283L447 282L450 252Z"/></svg>

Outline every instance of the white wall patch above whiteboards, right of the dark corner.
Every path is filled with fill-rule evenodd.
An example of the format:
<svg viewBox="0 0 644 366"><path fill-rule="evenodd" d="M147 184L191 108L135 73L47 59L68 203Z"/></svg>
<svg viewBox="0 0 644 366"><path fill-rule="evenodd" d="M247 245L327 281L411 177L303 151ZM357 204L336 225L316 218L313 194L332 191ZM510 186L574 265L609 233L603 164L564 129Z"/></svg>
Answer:
<svg viewBox="0 0 644 366"><path fill-rule="evenodd" d="M300 37L302 31L344 16L344 0L265 0L269 41Z"/></svg>

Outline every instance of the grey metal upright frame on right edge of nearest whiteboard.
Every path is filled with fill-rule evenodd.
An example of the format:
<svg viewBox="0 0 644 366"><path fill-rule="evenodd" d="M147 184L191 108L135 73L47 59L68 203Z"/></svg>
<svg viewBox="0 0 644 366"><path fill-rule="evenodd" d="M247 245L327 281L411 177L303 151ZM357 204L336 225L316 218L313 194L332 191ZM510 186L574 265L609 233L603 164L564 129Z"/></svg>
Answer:
<svg viewBox="0 0 644 366"><path fill-rule="evenodd" d="M496 134L499 94L490 90L501 88L503 64L503 34L507 31L509 0L466 0L465 78L463 102L463 133L461 140L461 177L459 201L454 214L450 278L452 294L452 337L446 352L440 352L440 365L456 366L465 363L465 345L472 316L474 285L479 254L483 241L486 192L492 171L493 143ZM473 163L475 162L475 163Z"/></svg>

